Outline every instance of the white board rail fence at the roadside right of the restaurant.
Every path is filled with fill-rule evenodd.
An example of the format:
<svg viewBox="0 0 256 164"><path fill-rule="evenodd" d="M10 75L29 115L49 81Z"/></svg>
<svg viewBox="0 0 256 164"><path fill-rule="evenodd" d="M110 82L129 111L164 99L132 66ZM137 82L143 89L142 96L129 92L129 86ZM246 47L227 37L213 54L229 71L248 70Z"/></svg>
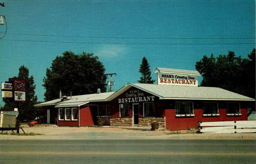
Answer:
<svg viewBox="0 0 256 164"><path fill-rule="evenodd" d="M256 121L198 122L201 133L256 133Z"/></svg>

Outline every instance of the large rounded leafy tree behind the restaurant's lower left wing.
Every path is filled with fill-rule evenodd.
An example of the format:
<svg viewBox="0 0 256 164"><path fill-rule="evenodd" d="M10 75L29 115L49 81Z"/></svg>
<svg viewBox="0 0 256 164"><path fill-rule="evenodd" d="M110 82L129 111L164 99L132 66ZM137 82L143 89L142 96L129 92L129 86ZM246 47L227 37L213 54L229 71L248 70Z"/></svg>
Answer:
<svg viewBox="0 0 256 164"><path fill-rule="evenodd" d="M45 101L59 98L62 95L82 95L96 93L97 88L106 91L105 68L99 57L94 54L74 54L65 51L63 56L57 56L47 68L44 77Z"/></svg>

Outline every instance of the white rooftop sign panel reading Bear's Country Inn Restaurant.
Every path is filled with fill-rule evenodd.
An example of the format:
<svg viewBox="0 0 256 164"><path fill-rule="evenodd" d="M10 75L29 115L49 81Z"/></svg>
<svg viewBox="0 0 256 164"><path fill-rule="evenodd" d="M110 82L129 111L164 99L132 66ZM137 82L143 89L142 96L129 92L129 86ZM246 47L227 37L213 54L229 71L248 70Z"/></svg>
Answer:
<svg viewBox="0 0 256 164"><path fill-rule="evenodd" d="M157 84L198 86L198 76L158 73Z"/></svg>

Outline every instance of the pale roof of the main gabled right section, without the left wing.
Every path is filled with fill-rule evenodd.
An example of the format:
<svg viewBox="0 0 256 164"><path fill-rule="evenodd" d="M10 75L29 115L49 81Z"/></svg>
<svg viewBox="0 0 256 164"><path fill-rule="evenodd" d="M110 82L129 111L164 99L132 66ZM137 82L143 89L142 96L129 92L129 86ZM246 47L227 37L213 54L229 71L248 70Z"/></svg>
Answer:
<svg viewBox="0 0 256 164"><path fill-rule="evenodd" d="M250 97L215 87L192 87L143 83L128 83L111 95L106 101L111 101L131 87L144 90L145 92L158 96L159 99L255 101L255 99Z"/></svg>

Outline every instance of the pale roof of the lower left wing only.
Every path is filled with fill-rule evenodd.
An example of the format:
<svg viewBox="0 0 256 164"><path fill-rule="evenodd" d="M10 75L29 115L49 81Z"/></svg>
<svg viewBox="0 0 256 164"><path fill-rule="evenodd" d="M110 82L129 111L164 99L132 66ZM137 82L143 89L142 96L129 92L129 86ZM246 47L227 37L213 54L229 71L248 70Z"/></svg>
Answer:
<svg viewBox="0 0 256 164"><path fill-rule="evenodd" d="M111 96L114 92L105 92L105 93L94 93L86 94L79 96L68 96L66 101L61 102L61 99L55 99L48 102L43 102L35 105L39 106L49 106L55 105L55 107L79 107L81 105L87 104L89 102L100 102L104 101L107 97Z"/></svg>

